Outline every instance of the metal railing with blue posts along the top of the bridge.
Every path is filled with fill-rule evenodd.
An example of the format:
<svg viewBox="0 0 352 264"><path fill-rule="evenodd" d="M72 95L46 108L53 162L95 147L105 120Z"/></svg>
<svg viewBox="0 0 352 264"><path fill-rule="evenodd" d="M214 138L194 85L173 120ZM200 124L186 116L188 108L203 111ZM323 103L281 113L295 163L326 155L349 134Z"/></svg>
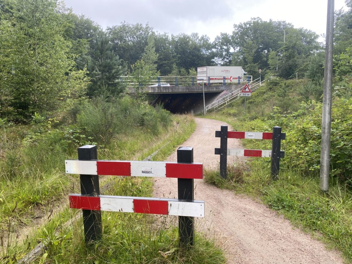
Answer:
<svg viewBox="0 0 352 264"><path fill-rule="evenodd" d="M120 82L125 83L127 87L143 86L141 83L133 82L133 76L121 76ZM245 76L208 76L204 80L204 85L230 85L230 84L244 84L252 81L251 75ZM158 76L150 78L145 86L197 86L201 85L202 81L197 80L197 76Z"/></svg>

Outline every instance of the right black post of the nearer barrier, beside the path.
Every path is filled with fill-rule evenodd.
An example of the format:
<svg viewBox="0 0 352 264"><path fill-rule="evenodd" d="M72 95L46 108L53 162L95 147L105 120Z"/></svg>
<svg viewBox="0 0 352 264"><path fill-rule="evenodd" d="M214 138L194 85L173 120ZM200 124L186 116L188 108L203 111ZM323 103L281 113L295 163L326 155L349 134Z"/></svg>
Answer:
<svg viewBox="0 0 352 264"><path fill-rule="evenodd" d="M193 147L179 147L177 150L177 163L192 163ZM193 179L177 179L178 199L194 200ZM194 217L178 216L178 237L180 246L194 244Z"/></svg>

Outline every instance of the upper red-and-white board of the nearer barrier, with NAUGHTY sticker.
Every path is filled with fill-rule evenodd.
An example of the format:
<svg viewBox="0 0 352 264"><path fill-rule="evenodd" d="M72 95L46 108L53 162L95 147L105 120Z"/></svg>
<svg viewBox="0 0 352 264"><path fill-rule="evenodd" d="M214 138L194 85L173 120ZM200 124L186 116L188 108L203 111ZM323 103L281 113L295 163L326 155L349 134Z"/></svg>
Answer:
<svg viewBox="0 0 352 264"><path fill-rule="evenodd" d="M202 179L202 163L66 160L68 174Z"/></svg>

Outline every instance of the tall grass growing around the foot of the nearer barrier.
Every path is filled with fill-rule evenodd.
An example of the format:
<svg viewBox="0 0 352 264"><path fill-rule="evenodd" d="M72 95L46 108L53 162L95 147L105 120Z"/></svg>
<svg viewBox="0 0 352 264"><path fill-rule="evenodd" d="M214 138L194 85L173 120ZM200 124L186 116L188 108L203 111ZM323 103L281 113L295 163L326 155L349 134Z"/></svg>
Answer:
<svg viewBox="0 0 352 264"><path fill-rule="evenodd" d="M121 178L109 189L109 195L150 196L148 178ZM102 212L103 237L86 245L81 218L54 235L53 225L43 228L48 245L37 263L224 263L224 255L214 241L196 233L195 245L188 250L178 245L177 228L169 227L177 219L152 215ZM48 238L49 239L48 239ZM11 254L10 254L11 255ZM11 262L10 262L11 263Z"/></svg>

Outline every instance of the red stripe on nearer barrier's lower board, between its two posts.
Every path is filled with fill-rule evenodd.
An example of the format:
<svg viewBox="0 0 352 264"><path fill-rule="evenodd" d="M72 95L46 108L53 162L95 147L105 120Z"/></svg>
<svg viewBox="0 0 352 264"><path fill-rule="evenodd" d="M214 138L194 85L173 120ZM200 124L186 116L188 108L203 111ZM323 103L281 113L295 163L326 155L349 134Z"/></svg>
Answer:
<svg viewBox="0 0 352 264"><path fill-rule="evenodd" d="M143 214L169 214L168 201L133 200L133 210Z"/></svg>

